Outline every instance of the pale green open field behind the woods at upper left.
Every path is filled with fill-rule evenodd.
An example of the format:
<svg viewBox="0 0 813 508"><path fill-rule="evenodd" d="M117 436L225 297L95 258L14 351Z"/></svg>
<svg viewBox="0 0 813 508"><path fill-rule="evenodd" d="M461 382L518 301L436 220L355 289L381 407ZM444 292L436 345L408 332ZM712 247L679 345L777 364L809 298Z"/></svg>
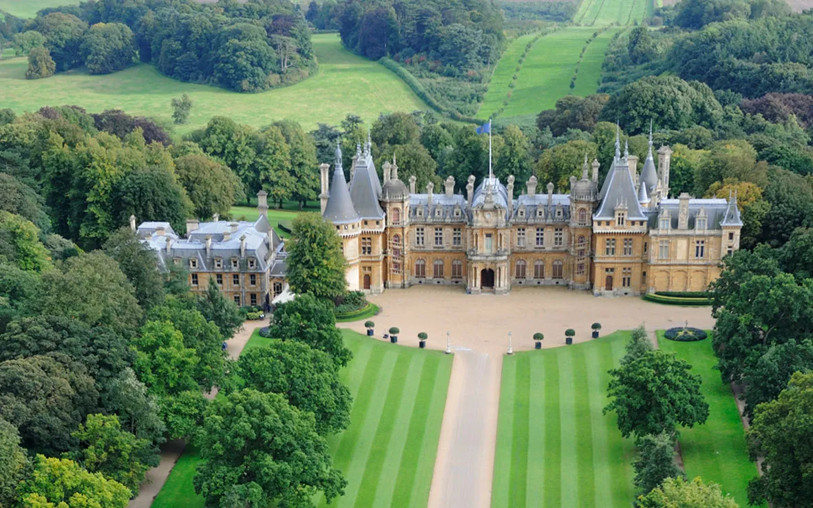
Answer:
<svg viewBox="0 0 813 508"><path fill-rule="evenodd" d="M254 127L288 118L311 130L317 123L338 124L350 113L372 122L380 113L428 109L398 76L342 48L337 34L315 35L313 43L319 73L297 85L264 93L184 83L146 64L106 76L76 70L33 82L24 78L26 59L7 59L0 62L2 106L18 113L59 104L75 104L92 112L115 108L171 124L170 100L189 93L195 105L190 123L176 127L181 134L202 127L215 115Z"/></svg>

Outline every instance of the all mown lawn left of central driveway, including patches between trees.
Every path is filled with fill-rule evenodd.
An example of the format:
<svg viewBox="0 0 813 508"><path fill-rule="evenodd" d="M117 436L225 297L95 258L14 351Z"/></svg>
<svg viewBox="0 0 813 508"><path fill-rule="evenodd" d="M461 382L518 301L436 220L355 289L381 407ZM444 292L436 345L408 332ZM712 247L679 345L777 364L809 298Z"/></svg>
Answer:
<svg viewBox="0 0 813 508"><path fill-rule="evenodd" d="M424 507L452 358L440 351L375 341L350 330L341 333L353 351L341 378L354 402L350 427L328 439L333 465L348 482L345 496L330 506ZM246 348L268 341L254 332ZM192 487L199 461L194 449L181 456L153 508L202 508L203 499ZM326 506L324 499L316 502Z"/></svg>

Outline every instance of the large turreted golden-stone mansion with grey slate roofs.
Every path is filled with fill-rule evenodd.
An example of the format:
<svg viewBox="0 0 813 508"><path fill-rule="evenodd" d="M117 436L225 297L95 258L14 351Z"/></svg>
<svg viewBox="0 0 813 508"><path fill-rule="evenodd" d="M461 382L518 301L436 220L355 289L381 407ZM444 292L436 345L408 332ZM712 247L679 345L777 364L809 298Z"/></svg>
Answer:
<svg viewBox="0 0 813 508"><path fill-rule="evenodd" d="M350 184L337 146L333 175L320 166L321 210L341 237L350 289L380 293L414 284L459 284L468 293L507 293L514 286L562 285L597 295L702 291L720 274L720 259L737 250L742 221L737 197L669 196L672 150L650 149L640 175L637 157L615 140L615 158L599 185L597 160L572 176L569 193L537 192L532 176L517 192L489 176L454 178L436 193L417 193L398 165L384 163L383 184L371 143L359 145ZM591 172L592 171L592 172ZM440 189L438 189L440 190ZM518 194L518 195L517 195Z"/></svg>

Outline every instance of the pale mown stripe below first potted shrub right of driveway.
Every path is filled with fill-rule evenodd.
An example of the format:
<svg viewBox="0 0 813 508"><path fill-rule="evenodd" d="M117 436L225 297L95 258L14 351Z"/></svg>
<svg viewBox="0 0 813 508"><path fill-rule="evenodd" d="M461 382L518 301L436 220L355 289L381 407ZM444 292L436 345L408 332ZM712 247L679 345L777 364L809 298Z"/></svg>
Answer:
<svg viewBox="0 0 813 508"><path fill-rule="evenodd" d="M528 401L528 493L525 506L541 508L545 499L545 361L550 355L533 355L529 372L531 396Z"/></svg>

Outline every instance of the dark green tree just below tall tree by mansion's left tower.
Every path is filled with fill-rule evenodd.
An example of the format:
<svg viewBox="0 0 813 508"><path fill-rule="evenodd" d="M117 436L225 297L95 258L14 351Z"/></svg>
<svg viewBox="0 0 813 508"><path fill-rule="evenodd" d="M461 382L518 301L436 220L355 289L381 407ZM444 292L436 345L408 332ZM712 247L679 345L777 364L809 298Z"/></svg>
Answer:
<svg viewBox="0 0 813 508"><path fill-rule="evenodd" d="M339 367L353 358L336 328L333 302L300 294L278 306L273 315L271 335L283 341L299 341L329 354Z"/></svg>

